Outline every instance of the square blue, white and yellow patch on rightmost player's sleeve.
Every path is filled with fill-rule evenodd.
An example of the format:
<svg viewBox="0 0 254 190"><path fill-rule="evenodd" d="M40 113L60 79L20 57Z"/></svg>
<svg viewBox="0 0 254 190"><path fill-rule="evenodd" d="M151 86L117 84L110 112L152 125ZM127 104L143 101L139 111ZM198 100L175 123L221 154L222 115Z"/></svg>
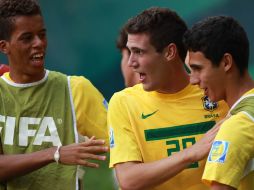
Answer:
<svg viewBox="0 0 254 190"><path fill-rule="evenodd" d="M208 162L224 163L228 153L227 141L214 141L208 156Z"/></svg>

